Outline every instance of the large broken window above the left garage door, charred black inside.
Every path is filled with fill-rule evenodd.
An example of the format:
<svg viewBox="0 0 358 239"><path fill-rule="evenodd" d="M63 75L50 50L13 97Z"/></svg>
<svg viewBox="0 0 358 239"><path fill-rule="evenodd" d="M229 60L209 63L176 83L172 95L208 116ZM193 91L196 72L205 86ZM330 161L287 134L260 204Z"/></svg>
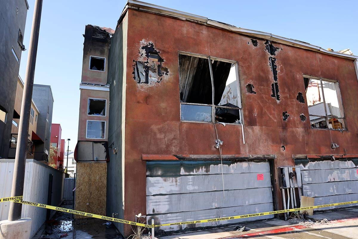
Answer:
<svg viewBox="0 0 358 239"><path fill-rule="evenodd" d="M179 54L181 120L241 122L237 64Z"/></svg>

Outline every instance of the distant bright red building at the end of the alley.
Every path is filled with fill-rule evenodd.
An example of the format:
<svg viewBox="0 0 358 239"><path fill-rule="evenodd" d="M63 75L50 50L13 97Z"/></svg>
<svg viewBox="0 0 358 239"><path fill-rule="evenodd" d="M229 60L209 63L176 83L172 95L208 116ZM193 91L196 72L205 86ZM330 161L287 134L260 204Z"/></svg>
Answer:
<svg viewBox="0 0 358 239"><path fill-rule="evenodd" d="M51 139L50 143L52 147L55 148L56 157L53 159L56 168L63 165L63 155L64 155L64 139L61 139L62 128L60 124L51 125ZM63 140L63 141L62 141ZM62 145L63 143L63 145Z"/></svg>

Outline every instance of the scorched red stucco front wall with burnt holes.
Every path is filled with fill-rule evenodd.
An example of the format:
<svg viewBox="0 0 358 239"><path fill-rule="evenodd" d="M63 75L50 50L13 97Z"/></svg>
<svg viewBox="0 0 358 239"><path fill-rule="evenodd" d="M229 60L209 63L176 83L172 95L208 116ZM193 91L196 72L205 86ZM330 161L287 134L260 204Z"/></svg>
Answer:
<svg viewBox="0 0 358 239"><path fill-rule="evenodd" d="M125 219L146 211L142 154L218 154L213 147L213 124L180 122L178 51L238 62L246 144L240 125L217 124L223 154L276 154L275 167L280 167L294 166L292 154L358 153L358 83L353 61L274 42L270 46L266 40L132 9L127 16ZM160 82L134 79L133 61L139 58L142 42L153 43L160 51L162 66L168 69L168 77ZM305 92L303 74L339 81L348 131L311 129L309 120L301 120L300 115L309 115L307 105L296 99L299 92ZM271 96L274 83L279 100ZM248 84L256 94L247 92ZM284 113L289 115L286 120ZM331 149L331 142L340 147ZM130 230L127 225L125 229Z"/></svg>

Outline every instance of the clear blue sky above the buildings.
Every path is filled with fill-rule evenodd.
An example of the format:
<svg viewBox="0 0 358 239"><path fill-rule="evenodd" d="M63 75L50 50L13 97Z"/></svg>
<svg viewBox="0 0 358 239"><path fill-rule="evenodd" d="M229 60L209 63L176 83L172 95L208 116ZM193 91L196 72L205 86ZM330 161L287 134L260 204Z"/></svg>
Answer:
<svg viewBox="0 0 358 239"><path fill-rule="evenodd" d="M29 46L34 0L28 0L24 44ZM205 16L241 28L269 32L335 51L350 48L358 55L358 1L211 1L147 0L149 3ZM86 24L115 29L125 0L44 0L35 83L51 85L52 123L62 126L62 138L77 142L79 82ZM129 29L130 30L130 29ZM28 51L21 56L25 78ZM66 142L67 147L67 142Z"/></svg>

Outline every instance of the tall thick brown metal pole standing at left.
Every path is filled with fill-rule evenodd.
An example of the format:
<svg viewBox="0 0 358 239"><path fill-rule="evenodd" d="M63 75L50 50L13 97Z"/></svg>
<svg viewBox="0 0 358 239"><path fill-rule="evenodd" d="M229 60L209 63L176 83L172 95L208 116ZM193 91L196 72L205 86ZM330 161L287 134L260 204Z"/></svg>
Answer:
<svg viewBox="0 0 358 239"><path fill-rule="evenodd" d="M21 101L19 138L16 145L15 165L13 185L11 187L11 197L22 196L24 192L26 150L28 143L28 133L30 124L30 109L32 100L32 89L34 86L35 64L37 56L37 46L39 42L39 31L42 11L42 0L35 0L34 17L29 45L29 56L26 65L24 91ZM22 204L10 202L9 221L21 218Z"/></svg>

